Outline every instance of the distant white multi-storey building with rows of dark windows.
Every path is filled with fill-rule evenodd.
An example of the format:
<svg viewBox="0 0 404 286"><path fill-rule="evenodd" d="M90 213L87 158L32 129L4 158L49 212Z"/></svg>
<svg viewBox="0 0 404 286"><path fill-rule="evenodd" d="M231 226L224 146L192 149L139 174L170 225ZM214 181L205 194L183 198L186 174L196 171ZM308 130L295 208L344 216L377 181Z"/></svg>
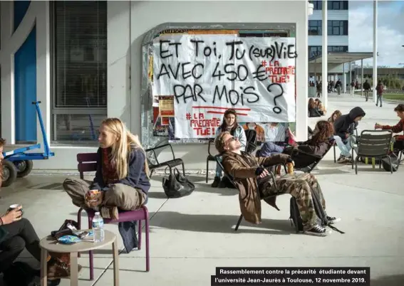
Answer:
<svg viewBox="0 0 404 286"><path fill-rule="evenodd" d="M321 55L322 52L322 10L323 1L310 1L314 4L314 11L309 16L309 58ZM328 1L327 3L327 34L328 52L348 52L348 25L349 25L349 1ZM346 64L345 73L348 73L349 64ZM314 74L321 70L309 67L309 76L314 79ZM328 69L328 80L335 80L343 74L343 65ZM320 76L321 75L317 75Z"/></svg>

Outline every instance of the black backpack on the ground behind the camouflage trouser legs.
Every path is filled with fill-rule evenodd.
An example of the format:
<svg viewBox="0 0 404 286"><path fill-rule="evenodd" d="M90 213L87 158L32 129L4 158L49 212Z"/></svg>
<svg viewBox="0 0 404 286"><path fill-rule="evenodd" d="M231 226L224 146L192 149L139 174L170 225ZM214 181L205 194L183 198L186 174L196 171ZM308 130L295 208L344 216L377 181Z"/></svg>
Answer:
<svg viewBox="0 0 404 286"><path fill-rule="evenodd" d="M343 231L340 231L338 228L335 226L332 226L328 220L326 213L323 209L323 206L321 206L320 199L318 198L318 194L316 194L313 189L311 189L311 196L313 197L313 203L314 203L314 209L316 211L316 215L318 218L318 224L320 226L328 226L329 228L333 229L334 231L338 231L338 233L344 233ZM296 198L293 196L291 197L291 206L290 206L290 217L289 219L291 220L291 223L294 224L294 227L296 228L296 233L303 232L303 221L301 221L301 216L299 212L299 207L297 206L296 203Z"/></svg>

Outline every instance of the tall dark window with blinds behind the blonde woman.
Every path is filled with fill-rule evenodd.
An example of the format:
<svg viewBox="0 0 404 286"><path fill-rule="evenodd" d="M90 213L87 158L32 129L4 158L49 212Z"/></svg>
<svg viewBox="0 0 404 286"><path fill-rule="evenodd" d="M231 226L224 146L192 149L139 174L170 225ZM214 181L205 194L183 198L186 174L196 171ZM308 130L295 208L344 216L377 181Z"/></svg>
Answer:
<svg viewBox="0 0 404 286"><path fill-rule="evenodd" d="M54 1L52 20L52 141L94 141L107 115L107 2Z"/></svg>

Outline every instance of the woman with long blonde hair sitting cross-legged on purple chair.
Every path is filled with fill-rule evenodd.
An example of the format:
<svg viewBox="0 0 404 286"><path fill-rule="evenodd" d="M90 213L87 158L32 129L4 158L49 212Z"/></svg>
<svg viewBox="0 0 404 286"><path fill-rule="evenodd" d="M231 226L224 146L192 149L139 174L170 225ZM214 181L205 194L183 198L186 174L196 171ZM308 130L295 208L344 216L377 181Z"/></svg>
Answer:
<svg viewBox="0 0 404 286"><path fill-rule="evenodd" d="M137 135L118 118L103 120L99 129L97 171L93 182L68 178L63 189L73 204L118 218L118 208L134 211L147 201L150 189L145 151Z"/></svg>

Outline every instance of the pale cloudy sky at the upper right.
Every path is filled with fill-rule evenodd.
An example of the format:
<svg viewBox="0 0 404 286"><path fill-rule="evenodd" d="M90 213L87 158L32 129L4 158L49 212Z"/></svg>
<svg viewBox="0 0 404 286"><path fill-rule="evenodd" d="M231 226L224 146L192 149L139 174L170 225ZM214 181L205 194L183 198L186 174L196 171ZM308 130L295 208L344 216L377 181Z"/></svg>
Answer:
<svg viewBox="0 0 404 286"><path fill-rule="evenodd" d="M373 1L349 1L348 28L350 52L373 52ZM378 65L404 68L403 45L404 1L378 1Z"/></svg>

